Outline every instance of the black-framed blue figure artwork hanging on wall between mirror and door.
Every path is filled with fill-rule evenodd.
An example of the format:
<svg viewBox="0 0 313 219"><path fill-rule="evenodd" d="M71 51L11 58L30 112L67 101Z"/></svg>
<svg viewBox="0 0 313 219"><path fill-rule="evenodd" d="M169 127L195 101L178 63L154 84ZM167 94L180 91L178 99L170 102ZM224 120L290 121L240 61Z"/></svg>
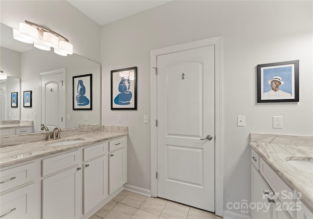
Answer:
<svg viewBox="0 0 313 219"><path fill-rule="evenodd" d="M111 71L111 110L137 110L137 67Z"/></svg>

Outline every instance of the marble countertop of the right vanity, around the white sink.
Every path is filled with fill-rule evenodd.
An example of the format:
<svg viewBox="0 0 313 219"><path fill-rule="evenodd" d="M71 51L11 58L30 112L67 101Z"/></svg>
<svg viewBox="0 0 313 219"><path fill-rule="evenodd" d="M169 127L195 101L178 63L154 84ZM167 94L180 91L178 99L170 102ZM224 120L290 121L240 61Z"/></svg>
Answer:
<svg viewBox="0 0 313 219"><path fill-rule="evenodd" d="M312 138L307 138L306 140L309 139L309 141L306 142L302 142L299 139L297 145L292 145L290 144L291 142L296 142L294 136L280 135L279 138L284 140L275 141L273 140L275 137L273 137L269 141L265 140L265 142L254 137L251 133L249 145L291 189L300 192L303 200L310 206L313 206L313 174L298 169L287 162L290 159L313 160Z"/></svg>

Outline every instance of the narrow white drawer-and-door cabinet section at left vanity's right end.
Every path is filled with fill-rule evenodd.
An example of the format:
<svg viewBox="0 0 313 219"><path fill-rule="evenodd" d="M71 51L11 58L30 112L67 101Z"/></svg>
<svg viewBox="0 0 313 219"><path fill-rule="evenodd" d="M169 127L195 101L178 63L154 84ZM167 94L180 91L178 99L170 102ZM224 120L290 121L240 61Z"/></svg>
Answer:
<svg viewBox="0 0 313 219"><path fill-rule="evenodd" d="M127 182L127 138L109 141L109 193Z"/></svg>

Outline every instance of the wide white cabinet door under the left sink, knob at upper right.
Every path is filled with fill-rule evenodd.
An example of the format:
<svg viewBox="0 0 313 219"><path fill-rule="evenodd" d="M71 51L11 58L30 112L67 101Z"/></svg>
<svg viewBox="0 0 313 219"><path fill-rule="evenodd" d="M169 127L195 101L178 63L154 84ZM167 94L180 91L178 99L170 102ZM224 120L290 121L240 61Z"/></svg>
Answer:
<svg viewBox="0 0 313 219"><path fill-rule="evenodd" d="M82 171L78 166L42 180L43 219L82 216Z"/></svg>

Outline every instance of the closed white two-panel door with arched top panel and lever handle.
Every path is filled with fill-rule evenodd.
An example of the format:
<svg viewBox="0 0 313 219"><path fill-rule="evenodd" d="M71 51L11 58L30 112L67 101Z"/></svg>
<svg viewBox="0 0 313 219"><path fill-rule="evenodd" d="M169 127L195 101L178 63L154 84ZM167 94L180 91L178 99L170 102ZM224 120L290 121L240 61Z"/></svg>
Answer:
<svg viewBox="0 0 313 219"><path fill-rule="evenodd" d="M211 212L215 212L214 55L211 45L157 56L156 79L157 197Z"/></svg>

